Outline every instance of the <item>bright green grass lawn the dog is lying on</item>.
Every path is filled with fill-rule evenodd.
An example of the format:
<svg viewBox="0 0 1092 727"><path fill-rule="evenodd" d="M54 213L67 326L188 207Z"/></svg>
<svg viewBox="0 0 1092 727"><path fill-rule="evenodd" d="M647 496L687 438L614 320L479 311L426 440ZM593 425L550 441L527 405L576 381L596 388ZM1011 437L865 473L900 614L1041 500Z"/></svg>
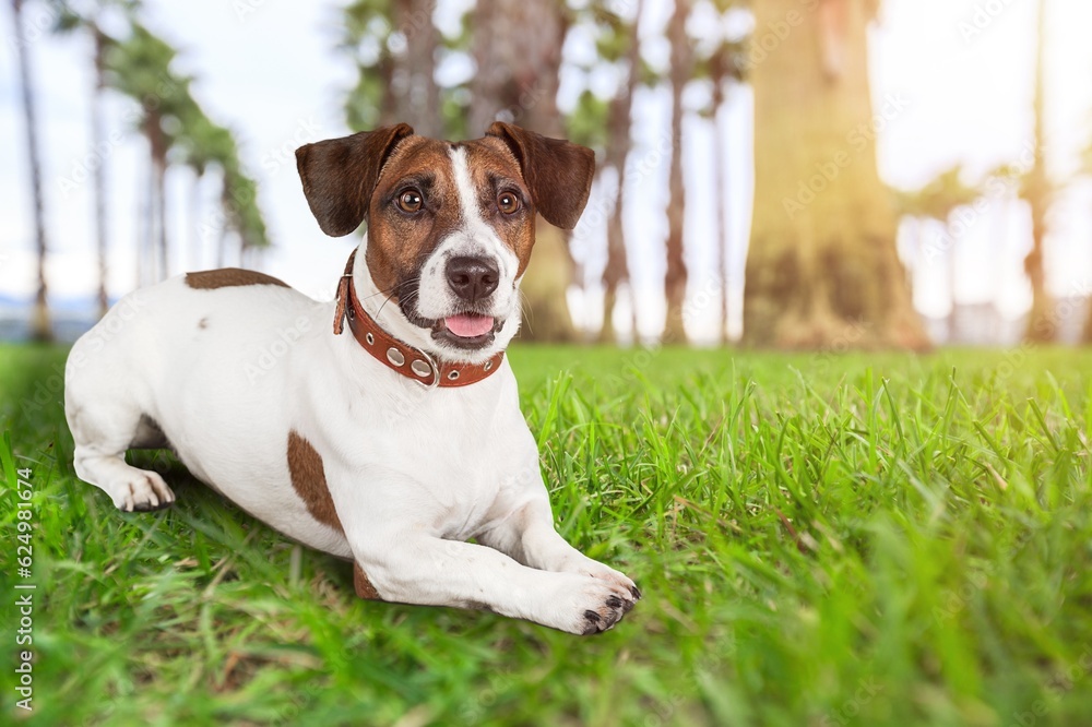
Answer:
<svg viewBox="0 0 1092 727"><path fill-rule="evenodd" d="M358 600L162 455L177 504L119 514L62 360L0 347L39 724L1092 724L1092 353L514 350L558 527L645 594L594 639Z"/></svg>

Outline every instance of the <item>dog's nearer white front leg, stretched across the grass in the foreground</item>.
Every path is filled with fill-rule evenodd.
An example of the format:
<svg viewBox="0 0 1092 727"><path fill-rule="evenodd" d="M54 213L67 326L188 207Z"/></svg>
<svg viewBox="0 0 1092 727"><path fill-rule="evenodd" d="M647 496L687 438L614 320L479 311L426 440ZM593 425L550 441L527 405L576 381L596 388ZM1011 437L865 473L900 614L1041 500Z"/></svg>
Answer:
<svg viewBox="0 0 1092 727"><path fill-rule="evenodd" d="M619 584L535 570L470 543L392 532L353 550L384 600L487 608L575 634L606 631L633 606L632 593Z"/></svg>

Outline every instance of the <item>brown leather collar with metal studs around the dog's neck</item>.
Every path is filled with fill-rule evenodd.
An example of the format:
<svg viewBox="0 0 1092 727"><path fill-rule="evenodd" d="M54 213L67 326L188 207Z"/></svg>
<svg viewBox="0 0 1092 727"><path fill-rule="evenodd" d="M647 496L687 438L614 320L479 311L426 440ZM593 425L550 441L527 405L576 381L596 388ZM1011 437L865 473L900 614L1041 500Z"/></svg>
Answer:
<svg viewBox="0 0 1092 727"><path fill-rule="evenodd" d="M426 386L466 386L491 376L500 368L505 351L499 351L484 364L450 364L436 361L431 356L404 344L376 323L356 298L353 285L353 261L356 250L345 263L345 274L337 284L337 307L334 312L334 334L341 335L345 318L357 343L389 369ZM437 376L439 368L439 376Z"/></svg>

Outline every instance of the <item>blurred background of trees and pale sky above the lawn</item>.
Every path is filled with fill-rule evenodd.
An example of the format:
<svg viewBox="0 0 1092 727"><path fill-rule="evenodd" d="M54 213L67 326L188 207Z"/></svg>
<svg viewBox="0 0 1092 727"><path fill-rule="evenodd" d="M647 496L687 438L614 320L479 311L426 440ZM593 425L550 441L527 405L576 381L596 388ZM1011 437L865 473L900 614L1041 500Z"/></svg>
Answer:
<svg viewBox="0 0 1092 727"><path fill-rule="evenodd" d="M500 119L596 151L543 223L536 341L1092 342L1082 0L4 0L0 339L263 270L332 299L358 236L297 146Z"/></svg>

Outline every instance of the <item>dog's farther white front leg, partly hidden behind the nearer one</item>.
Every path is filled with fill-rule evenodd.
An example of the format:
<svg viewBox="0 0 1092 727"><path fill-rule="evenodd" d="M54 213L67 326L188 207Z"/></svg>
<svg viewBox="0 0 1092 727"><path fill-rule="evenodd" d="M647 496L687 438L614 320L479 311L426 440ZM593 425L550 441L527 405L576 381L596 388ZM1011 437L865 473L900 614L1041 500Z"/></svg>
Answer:
<svg viewBox="0 0 1092 727"><path fill-rule="evenodd" d="M637 585L597 560L566 543L554 529L548 500L535 498L478 536L478 541L508 553L530 568L556 573L578 573L625 588L633 600L641 597Z"/></svg>

